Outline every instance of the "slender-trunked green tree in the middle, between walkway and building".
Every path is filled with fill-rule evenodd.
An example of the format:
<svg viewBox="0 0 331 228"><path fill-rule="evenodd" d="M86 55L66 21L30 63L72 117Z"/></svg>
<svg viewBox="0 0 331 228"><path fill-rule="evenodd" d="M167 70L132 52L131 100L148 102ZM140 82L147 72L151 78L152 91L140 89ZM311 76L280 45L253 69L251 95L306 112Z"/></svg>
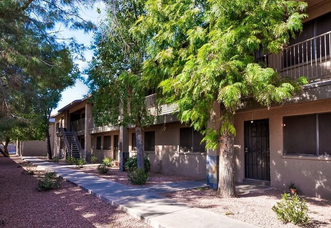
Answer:
<svg viewBox="0 0 331 228"><path fill-rule="evenodd" d="M137 167L144 168L142 127L154 117L145 103L150 83L142 77L146 41L130 32L144 14L144 2L111 0L108 4L107 18L94 37L94 57L87 71L92 113L97 125L135 126Z"/></svg>

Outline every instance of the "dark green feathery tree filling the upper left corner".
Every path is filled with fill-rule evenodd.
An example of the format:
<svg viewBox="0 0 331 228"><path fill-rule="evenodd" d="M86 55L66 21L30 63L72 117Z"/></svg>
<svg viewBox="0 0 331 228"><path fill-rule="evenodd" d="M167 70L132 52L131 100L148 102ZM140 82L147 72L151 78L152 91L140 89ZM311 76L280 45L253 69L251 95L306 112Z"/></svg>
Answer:
<svg viewBox="0 0 331 228"><path fill-rule="evenodd" d="M0 2L2 133L10 132L5 130L6 125L14 128L22 121L29 122L24 116L30 112L49 116L60 100L54 92L61 93L74 84L78 74L73 58L81 57L84 45L74 38L59 38L57 26L61 23L69 29L93 30L94 24L79 16L80 7L93 3L94 0ZM49 100L43 111L40 100ZM8 141L9 137L4 137ZM48 157L51 159L50 152Z"/></svg>

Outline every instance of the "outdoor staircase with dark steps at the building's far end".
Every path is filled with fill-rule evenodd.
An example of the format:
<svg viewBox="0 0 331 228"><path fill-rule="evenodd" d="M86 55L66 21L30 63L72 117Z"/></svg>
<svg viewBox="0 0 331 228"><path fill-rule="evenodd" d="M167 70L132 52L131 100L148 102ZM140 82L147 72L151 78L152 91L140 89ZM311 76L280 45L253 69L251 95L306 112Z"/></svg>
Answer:
<svg viewBox="0 0 331 228"><path fill-rule="evenodd" d="M68 132L66 129L61 129L63 141L66 145L67 155L71 158L79 159L81 157L81 146L79 144L77 136L74 132Z"/></svg>

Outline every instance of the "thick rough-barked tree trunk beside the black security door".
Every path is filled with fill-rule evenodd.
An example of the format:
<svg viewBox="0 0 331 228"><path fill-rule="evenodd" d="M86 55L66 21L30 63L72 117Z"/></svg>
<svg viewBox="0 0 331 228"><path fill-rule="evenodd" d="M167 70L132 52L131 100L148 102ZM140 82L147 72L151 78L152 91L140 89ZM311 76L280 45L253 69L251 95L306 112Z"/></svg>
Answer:
<svg viewBox="0 0 331 228"><path fill-rule="evenodd" d="M234 134L225 126L234 123L234 114L220 107L220 126L224 129L219 145L219 181L217 194L220 197L237 197L234 181Z"/></svg>

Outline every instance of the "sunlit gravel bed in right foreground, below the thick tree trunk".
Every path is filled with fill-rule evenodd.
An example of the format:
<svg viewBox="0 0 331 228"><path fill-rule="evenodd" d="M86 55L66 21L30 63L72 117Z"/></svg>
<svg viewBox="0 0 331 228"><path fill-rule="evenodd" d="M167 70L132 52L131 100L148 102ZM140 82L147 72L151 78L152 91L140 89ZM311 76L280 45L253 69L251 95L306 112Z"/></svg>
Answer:
<svg viewBox="0 0 331 228"><path fill-rule="evenodd" d="M239 194L238 198L220 198L216 196L214 189L199 188L162 195L259 227L299 227L292 223L284 224L271 210L271 207L281 199L282 193L282 191L271 190L262 193ZM331 227L331 201L308 196L301 197L307 200L309 208L311 223L307 227Z"/></svg>

